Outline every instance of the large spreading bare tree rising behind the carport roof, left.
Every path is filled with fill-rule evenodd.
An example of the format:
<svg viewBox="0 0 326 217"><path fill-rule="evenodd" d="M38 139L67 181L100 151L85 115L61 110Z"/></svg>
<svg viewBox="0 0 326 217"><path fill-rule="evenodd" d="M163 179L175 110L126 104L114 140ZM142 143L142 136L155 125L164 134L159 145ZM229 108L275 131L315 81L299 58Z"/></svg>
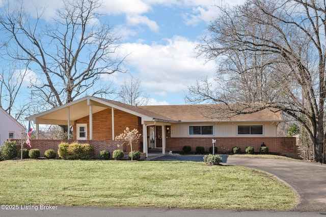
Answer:
<svg viewBox="0 0 326 217"><path fill-rule="evenodd" d="M39 105L57 107L86 95L110 94L110 86L99 82L102 76L121 72L124 57L116 53L119 37L103 23L98 0L63 1L51 21L27 13L23 5L3 9L0 25L7 55L30 61L38 76L32 84ZM42 108L45 109L45 108Z"/></svg>

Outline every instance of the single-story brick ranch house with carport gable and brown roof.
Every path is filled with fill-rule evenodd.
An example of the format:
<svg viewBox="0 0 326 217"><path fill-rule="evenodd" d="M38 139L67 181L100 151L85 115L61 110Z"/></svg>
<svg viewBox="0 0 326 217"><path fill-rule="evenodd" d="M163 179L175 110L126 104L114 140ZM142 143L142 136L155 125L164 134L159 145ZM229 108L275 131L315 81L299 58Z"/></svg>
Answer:
<svg viewBox="0 0 326 217"><path fill-rule="evenodd" d="M270 152L296 157L295 138L277 137L277 127L282 121L279 112L265 109L212 119L203 113L204 108L205 105L130 106L87 96L26 119L36 125L36 140L32 140L32 146L40 148L41 154L43 149L56 149L60 141L39 140L39 125L69 125L73 127L73 138L68 139L91 143L96 153L103 149L121 149L118 148L121 142L115 141L115 137L128 127L142 134L133 149L140 150L146 157L153 149L164 154L182 151L184 145L191 146L193 151L197 146L204 146L208 151L212 139L216 140L218 152L229 152L234 146L241 150L253 146L259 151L264 142ZM129 149L124 147L125 151Z"/></svg>

